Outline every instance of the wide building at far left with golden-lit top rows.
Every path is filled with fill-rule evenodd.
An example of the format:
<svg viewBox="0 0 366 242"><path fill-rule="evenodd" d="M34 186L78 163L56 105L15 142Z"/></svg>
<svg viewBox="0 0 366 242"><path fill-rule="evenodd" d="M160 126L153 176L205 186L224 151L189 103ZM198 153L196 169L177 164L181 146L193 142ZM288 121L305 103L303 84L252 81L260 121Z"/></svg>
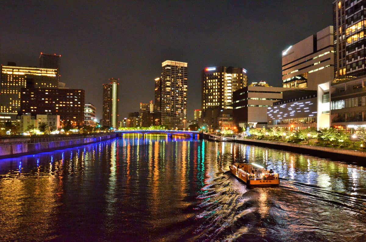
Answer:
<svg viewBox="0 0 366 242"><path fill-rule="evenodd" d="M23 87L57 88L57 69L1 65L0 117L15 120L20 109L20 89Z"/></svg>

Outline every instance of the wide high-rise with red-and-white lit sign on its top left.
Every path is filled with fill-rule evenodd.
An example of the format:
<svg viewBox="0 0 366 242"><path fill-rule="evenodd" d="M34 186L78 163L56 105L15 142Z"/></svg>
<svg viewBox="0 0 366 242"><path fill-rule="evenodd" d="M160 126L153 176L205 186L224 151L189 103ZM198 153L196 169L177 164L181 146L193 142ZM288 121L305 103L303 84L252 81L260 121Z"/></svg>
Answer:
<svg viewBox="0 0 366 242"><path fill-rule="evenodd" d="M232 109L232 93L247 86L247 70L234 67L208 67L202 70L202 112Z"/></svg>

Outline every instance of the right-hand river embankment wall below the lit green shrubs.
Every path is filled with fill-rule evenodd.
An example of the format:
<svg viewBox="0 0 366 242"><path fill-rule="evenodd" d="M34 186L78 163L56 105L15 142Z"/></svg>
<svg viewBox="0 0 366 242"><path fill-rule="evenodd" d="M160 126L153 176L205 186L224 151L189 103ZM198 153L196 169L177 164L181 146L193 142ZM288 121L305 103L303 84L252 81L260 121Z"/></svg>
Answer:
<svg viewBox="0 0 366 242"><path fill-rule="evenodd" d="M304 144L293 144L293 143L284 143L281 141L268 141L268 140L256 140L256 139L244 139L239 137L225 137L225 140L221 137L218 139L215 135L210 135L205 133L203 136L204 139L207 140L215 140L216 141L231 141L236 143L243 144L253 144L259 145L262 147L275 148L279 150L286 150L297 152L301 154L319 156L323 158L330 158L335 160L347 160L351 162L361 162L361 165L366 164L366 152L356 151L356 150L345 150L345 149L337 149L337 148L329 148L329 147L321 147L314 145L304 145Z"/></svg>

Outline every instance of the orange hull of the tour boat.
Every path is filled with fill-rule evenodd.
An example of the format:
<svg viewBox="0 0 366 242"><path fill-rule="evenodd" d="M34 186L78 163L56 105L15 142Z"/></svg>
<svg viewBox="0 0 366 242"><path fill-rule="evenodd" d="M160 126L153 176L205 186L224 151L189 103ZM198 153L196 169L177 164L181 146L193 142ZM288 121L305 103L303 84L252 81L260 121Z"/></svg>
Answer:
<svg viewBox="0 0 366 242"><path fill-rule="evenodd" d="M229 166L230 171L236 178L243 181L245 184L250 186L275 186L280 184L280 179L278 179L278 175L276 179L250 179L250 174L247 173L246 169L251 169L251 167L247 167L246 164L243 165L243 169L238 169L238 163L235 163Z"/></svg>

